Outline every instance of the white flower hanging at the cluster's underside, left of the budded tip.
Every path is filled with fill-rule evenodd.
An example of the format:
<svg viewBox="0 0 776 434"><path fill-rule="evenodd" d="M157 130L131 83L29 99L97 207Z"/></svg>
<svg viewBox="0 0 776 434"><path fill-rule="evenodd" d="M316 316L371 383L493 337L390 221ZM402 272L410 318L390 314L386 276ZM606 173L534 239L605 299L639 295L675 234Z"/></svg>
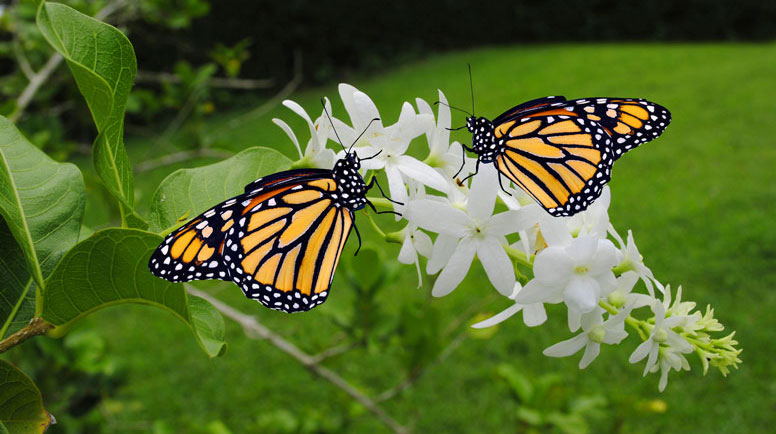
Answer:
<svg viewBox="0 0 776 434"><path fill-rule="evenodd" d="M545 349L544 355L567 357L585 348L585 354L579 361L579 369L585 369L598 357L602 343L619 344L628 336L625 331L627 311L623 310L617 315L609 315L606 321L604 321L603 314L604 310L599 307L582 315L582 333Z"/></svg>

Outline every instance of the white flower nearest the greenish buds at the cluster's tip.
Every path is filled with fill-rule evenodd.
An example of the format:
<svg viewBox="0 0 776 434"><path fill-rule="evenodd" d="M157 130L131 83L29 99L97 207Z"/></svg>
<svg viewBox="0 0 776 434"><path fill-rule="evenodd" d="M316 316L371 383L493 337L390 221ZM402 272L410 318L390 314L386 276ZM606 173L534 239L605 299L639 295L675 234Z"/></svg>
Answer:
<svg viewBox="0 0 776 434"><path fill-rule="evenodd" d="M666 307L660 300L655 300L652 305L652 312L655 314L655 325L652 329L652 334L633 351L633 354L628 359L631 363L636 363L646 357L647 365L644 367L644 375L647 375L647 372L650 371L654 372L659 355L669 354L669 352L661 352L661 349L671 348L674 352L678 351L679 353L691 353L694 350L694 347L685 338L672 330L674 327L682 326L687 320L686 316L666 317Z"/></svg>

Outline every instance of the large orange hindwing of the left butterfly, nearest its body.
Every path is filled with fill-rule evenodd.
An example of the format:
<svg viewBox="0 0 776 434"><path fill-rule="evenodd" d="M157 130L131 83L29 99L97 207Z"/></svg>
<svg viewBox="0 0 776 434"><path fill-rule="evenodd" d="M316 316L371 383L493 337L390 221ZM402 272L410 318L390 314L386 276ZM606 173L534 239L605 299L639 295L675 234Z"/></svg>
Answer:
<svg viewBox="0 0 776 434"><path fill-rule="evenodd" d="M327 173L272 184L271 194L240 203L223 257L247 297L284 312L307 311L326 300L353 225L353 213L333 196L336 183Z"/></svg>

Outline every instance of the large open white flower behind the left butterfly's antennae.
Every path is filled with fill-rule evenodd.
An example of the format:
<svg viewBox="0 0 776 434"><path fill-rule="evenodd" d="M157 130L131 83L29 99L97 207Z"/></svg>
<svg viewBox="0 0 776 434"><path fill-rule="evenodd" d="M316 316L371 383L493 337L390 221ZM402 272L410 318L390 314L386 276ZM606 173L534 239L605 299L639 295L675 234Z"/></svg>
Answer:
<svg viewBox="0 0 776 434"><path fill-rule="evenodd" d="M391 126L384 127L377 107L367 94L344 83L339 85L339 92L350 120L353 122L353 127L335 120L337 132L346 143L352 143L366 130L355 143L355 147L359 148L359 157L375 157L363 161L362 168L364 170L385 170L391 199L407 203L408 195L405 184L408 179L414 179L439 191L447 189L448 183L439 172L415 157L404 155L410 141L433 126L434 117L432 115L418 115L412 105L405 102L402 105L399 120ZM373 119L378 120L372 122ZM368 130L367 126L369 126ZM401 211L401 206L394 204L394 209Z"/></svg>

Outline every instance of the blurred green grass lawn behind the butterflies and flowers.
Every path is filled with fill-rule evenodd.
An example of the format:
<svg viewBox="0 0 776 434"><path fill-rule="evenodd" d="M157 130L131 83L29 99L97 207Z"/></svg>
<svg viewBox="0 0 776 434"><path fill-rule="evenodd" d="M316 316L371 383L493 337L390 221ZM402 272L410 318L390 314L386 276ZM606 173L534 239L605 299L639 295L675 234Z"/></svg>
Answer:
<svg viewBox="0 0 776 434"><path fill-rule="evenodd" d="M464 341L414 387L386 402L386 410L416 432L515 431L514 402L495 373L500 363L509 363L531 377L560 373L571 396L604 395L610 420L601 429L771 432L776 423L776 45L493 47L430 56L348 81L369 94L384 122L392 123L403 101L414 104L415 97L435 101L437 88L451 104L468 109L466 63L473 69L477 113L490 118L545 95L644 97L671 110L673 122L663 137L617 162L611 182L612 222L623 236L633 229L656 277L672 287L682 284L685 298L699 306L711 304L728 330L737 331L744 363L723 379L716 371L703 377L691 359L693 371L671 373L661 394L657 376L642 378L642 365L627 363L635 347L631 339L619 348L604 349L591 367L579 371L579 356L548 359L541 354L569 336L562 311L553 309L550 321L537 329L527 329L520 318L513 318L490 339ZM344 117L335 84L292 98L315 117L323 95L333 100L334 115ZM231 125L237 115L221 107L219 115L202 127L205 141L232 151L271 146L294 157L290 141L270 122L280 117L306 142L306 127L284 107L263 116L245 116ZM463 124L460 113L453 119L454 126ZM466 134L455 137L470 141ZM162 151L142 138L130 139L128 147L134 162L175 150ZM209 161L214 160L189 161L138 176L138 201L147 203L155 185L175 168ZM361 225L362 232L371 231L365 222ZM355 243L349 244L352 252ZM390 256L398 254L398 246L384 248ZM398 304L396 298L428 296L427 287L414 288L412 267L399 271L401 277L383 291L382 301ZM497 312L506 303L488 298L494 291L486 282L475 266L461 287L433 300L431 309L452 321L486 299L492 301L482 311ZM320 309L345 309L348 292L345 279L338 275L334 296ZM307 351L336 341L337 327L320 312L288 317L245 300L234 287L214 288L213 293L255 314ZM128 375L120 393L109 397L111 427L117 432L144 430L158 420L176 427L175 432L196 432L193 427L215 420L233 432L246 432L255 429L262 414L281 409L299 418L344 418L344 429L350 432L385 430L344 393L266 342L246 339L229 321L230 347L216 360L207 360L183 324L164 312L138 306L112 308L85 323L103 330ZM400 379L396 358L387 356L357 351L338 357L330 366L366 392L377 393ZM654 399L665 401L665 413L643 410L644 403Z"/></svg>

